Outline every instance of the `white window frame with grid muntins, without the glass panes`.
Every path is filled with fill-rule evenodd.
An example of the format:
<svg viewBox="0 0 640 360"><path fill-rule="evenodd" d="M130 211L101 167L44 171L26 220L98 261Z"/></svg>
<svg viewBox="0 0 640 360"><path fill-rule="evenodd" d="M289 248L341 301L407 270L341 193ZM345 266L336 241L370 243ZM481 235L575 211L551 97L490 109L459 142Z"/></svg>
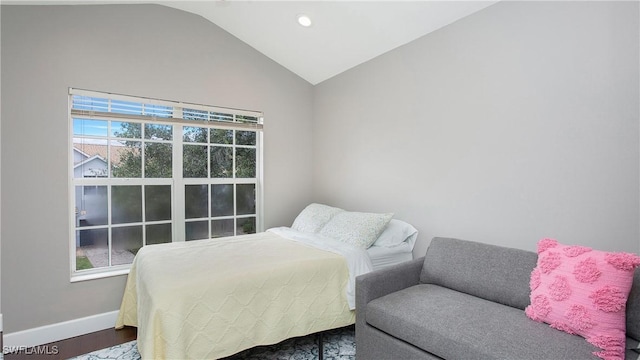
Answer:
<svg viewBox="0 0 640 360"><path fill-rule="evenodd" d="M143 104L151 104L151 105L160 105L167 106L173 108L171 117L159 117L155 116L155 114L151 114L151 116L144 115L144 110L142 115L140 114L122 114L122 113L114 113L110 112L110 105L104 108L106 111L96 111L94 110L78 110L73 108L73 98L74 96L86 96L91 98L102 98L116 100L116 101L129 101L135 103L143 103ZM110 102L109 102L110 104ZM195 109L198 112L203 112L209 114L207 119L185 119L183 116L183 109ZM221 116L218 116L221 115ZM204 117L204 115L203 115ZM136 122L142 123L144 126L145 123L163 123L167 125L173 126L173 136L170 143L172 144L172 177L171 178L112 178L111 170L109 169L109 176L105 178L75 178L74 177L74 130L73 130L73 121L74 118L82 118L82 119L90 119L90 120L106 120L106 121L126 121L126 122ZM249 119L249 120L247 120ZM127 265L110 265L107 267L100 267L94 269L87 270L76 270L76 230L78 229L76 225L76 186L86 186L86 185L96 185L96 186L106 186L108 189L109 195L107 196L108 201L108 212L110 213L111 209L111 195L110 189L113 185L140 185L142 187L142 210L144 213L144 186L145 185L171 185L171 224L172 224L172 240L173 242L182 242L185 241L185 222L189 221L185 219L185 211L184 211L184 202L185 202L185 185L189 184L233 184L234 186L234 194L235 187L238 184L255 184L256 191L256 209L255 209L255 220L256 220L256 232L264 231L263 224L263 114L258 111L249 111L249 110L239 110L239 109L230 109L223 107L215 107L208 105L200 105L200 104L190 104L176 101L167 101L167 100L159 100L159 99L149 99L121 94L112 94L112 93L104 93L97 91L89 91L89 90L81 90L81 89L69 89L69 111L68 111L68 136L67 144L69 146L69 259L70 259L70 280L71 282L76 281L84 281L91 280L97 278L104 278L110 276L117 276L128 274L131 268L130 264ZM183 144L187 144L183 141L182 133L183 127L191 126L191 127L205 127L205 128L218 128L218 129L228 129L228 130L250 130L256 132L256 177L250 179L236 178L235 174L232 178L183 178ZM141 139L141 141L146 141ZM235 136L233 140L232 147L236 148L235 144ZM242 147L242 146L238 146ZM253 147L253 146L251 146ZM235 170L235 156L233 157L233 169ZM108 166L111 163L108 162ZM144 163L143 163L144 168ZM143 170L144 171L144 170ZM236 213L236 201L234 195L234 215L232 218L234 220L243 218L243 215L238 215ZM209 228L211 227L211 207L209 206L209 218L207 218L207 222L209 223ZM110 216L109 216L110 217ZM254 217L253 214L244 216L244 217ZM144 224L153 224L151 221L143 221L141 223L128 223L125 226L136 226L136 225L144 225ZM106 225L108 229L112 227L118 227L118 225L113 226L111 221ZM122 225L121 225L122 226ZM104 228L104 226L100 226ZM83 229L85 229L83 227ZM86 228L91 229L91 227ZM142 231L145 231L145 226L142 226ZM209 230L211 231L211 229ZM109 231L110 233L110 231ZM109 235L108 247L109 247L109 258L111 258L111 240ZM144 236L143 236L144 239Z"/></svg>

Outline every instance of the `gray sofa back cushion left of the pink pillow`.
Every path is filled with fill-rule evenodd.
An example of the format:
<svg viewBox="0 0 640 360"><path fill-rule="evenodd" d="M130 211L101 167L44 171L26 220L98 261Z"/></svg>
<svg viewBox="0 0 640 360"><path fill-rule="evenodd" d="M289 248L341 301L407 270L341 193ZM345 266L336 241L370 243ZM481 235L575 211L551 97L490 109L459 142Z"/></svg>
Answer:
<svg viewBox="0 0 640 360"><path fill-rule="evenodd" d="M529 279L537 259L531 251L434 238L420 282L524 309L529 305Z"/></svg>

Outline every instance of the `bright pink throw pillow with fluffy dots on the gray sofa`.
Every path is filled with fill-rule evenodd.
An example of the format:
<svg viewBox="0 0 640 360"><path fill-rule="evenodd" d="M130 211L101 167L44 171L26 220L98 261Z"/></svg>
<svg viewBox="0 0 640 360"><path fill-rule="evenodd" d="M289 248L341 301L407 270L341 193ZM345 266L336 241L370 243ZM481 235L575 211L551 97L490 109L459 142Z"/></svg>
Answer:
<svg viewBox="0 0 640 360"><path fill-rule="evenodd" d="M531 272L533 320L580 335L602 351L602 359L624 359L625 308L640 256L585 246L538 242L538 262Z"/></svg>

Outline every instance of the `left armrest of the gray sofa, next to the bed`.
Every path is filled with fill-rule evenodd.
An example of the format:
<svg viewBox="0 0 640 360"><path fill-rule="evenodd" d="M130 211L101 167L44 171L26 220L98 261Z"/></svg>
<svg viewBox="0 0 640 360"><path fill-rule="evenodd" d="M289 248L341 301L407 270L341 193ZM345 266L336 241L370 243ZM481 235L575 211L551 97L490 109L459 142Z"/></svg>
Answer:
<svg viewBox="0 0 640 360"><path fill-rule="evenodd" d="M419 284L423 263L421 257L356 277L356 322L371 300Z"/></svg>

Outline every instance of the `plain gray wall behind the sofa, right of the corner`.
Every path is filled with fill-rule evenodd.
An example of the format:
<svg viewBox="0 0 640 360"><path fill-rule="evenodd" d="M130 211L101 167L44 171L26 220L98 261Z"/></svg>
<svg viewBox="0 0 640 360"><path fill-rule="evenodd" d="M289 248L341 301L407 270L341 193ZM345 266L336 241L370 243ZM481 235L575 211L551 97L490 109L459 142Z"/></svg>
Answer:
<svg viewBox="0 0 640 360"><path fill-rule="evenodd" d="M314 88L314 199L638 252L637 2L503 1Z"/></svg>

